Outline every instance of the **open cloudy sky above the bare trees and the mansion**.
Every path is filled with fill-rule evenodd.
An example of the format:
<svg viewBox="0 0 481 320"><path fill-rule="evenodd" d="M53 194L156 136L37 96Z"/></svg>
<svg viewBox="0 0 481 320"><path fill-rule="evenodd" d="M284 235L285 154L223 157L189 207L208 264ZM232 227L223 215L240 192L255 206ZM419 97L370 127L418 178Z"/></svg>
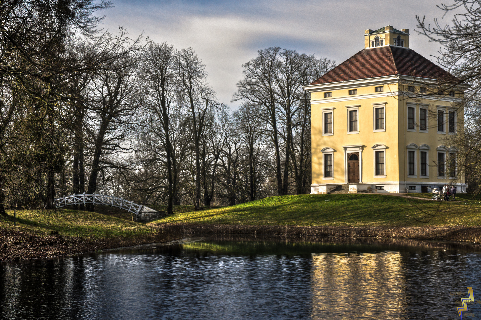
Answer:
<svg viewBox="0 0 481 320"><path fill-rule="evenodd" d="M448 1L449 3L450 1ZM411 49L432 59L439 44L415 32L416 15L432 22L441 0L114 0L103 29L123 26L132 37L192 47L207 65L218 99L229 103L241 79L241 65L271 46L336 60L364 48L364 30L391 25L409 29Z"/></svg>

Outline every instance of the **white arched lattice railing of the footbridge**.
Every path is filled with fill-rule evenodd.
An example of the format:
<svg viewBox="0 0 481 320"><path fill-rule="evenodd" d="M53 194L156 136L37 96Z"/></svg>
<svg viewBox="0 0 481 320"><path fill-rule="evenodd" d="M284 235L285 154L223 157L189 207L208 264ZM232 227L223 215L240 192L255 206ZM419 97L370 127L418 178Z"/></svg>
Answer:
<svg viewBox="0 0 481 320"><path fill-rule="evenodd" d="M142 211L143 205L138 205L133 201L125 200L124 198L117 198L113 195L83 193L63 196L63 198L55 199L55 206L61 208L68 205L110 205L116 208L127 210L135 215Z"/></svg>

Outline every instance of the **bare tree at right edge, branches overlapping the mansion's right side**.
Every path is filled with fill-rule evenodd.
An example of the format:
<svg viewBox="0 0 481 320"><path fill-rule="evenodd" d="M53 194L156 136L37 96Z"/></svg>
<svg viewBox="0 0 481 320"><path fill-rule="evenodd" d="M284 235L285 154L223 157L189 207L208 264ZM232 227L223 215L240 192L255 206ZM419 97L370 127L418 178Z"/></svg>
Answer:
<svg viewBox="0 0 481 320"><path fill-rule="evenodd" d="M435 93L441 96L456 92L459 100L455 107L464 110L465 127L462 133L450 136L446 145L458 149L458 171L466 174L468 185L481 191L481 2L479 0L453 0L438 6L446 14L453 14L452 24L442 26L438 19L428 24L425 17L417 16L419 32L430 41L441 45L437 63L456 77L438 79ZM458 119L458 128L461 117Z"/></svg>

